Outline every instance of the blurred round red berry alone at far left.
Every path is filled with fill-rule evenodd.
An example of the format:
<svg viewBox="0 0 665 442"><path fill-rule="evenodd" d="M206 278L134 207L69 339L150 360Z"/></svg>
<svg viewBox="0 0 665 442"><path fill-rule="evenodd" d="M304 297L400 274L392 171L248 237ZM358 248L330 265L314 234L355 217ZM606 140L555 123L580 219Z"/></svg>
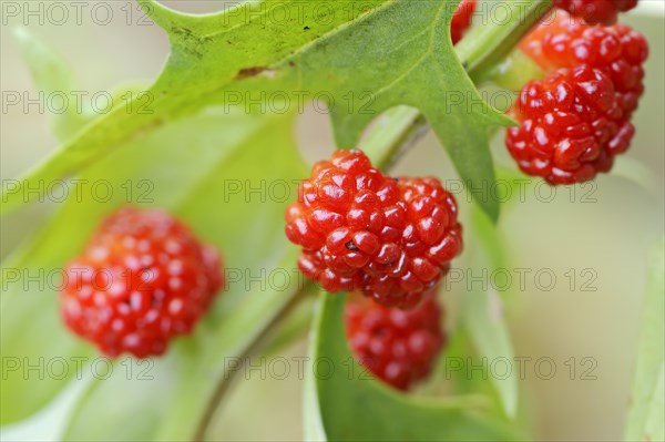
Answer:
<svg viewBox="0 0 665 442"><path fill-rule="evenodd" d="M66 326L103 353L161 354L188 333L223 284L217 251L168 214L126 207L66 267Z"/></svg>

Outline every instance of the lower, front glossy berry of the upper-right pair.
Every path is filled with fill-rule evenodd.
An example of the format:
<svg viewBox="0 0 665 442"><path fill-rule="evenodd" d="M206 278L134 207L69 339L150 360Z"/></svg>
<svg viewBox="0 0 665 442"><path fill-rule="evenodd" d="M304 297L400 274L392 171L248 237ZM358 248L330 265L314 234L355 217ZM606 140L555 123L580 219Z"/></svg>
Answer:
<svg viewBox="0 0 665 442"><path fill-rule="evenodd" d="M519 127L507 146L522 171L551 184L573 184L607 172L634 134L612 80L581 65L528 83L518 105Z"/></svg>

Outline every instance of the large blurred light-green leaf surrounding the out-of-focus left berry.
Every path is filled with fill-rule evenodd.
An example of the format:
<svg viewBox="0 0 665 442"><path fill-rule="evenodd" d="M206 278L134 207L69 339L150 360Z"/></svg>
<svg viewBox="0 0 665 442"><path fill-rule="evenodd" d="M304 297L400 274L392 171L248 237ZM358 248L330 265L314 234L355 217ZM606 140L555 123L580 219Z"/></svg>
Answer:
<svg viewBox="0 0 665 442"><path fill-rule="evenodd" d="M237 110L207 109L126 143L78 177L90 184L105 182L112 189L111 199L92 198L90 185L84 187L88 191L82 201L72 194L42 234L8 264L10 269L24 269L24 275L60 269L109 212L127 203L143 203L185 219L204 240L222 250L227 279L236 279L227 285L196 332L180 339L168 357L155 361L154 371L160 374L153 381L127 381L121 376L124 368L116 366L114 377L93 382L69 435L86 439L122 428L127 435L135 433L130 438L134 440L147 432L166 439L193 436L214 386L224 377L224 358L241 356L301 287L295 248L284 238L282 223L272 222L282 219L295 195L294 179L305 174L291 126L293 115L257 117ZM20 278L2 294L3 358L43 357L48 361L92 357L91 347L61 325L57 292L49 288L27 290L25 285L30 287ZM2 423L39 410L72 376L70 372L60 381L37 376L3 380ZM130 390L136 394L131 401L136 408L123 399ZM154 401L152 395L164 400ZM188 399L173 399L181 397ZM98 401L124 403L125 408L117 405L103 422L88 419L88 412L100 409ZM150 419L127 424L140 407L155 407L160 415L178 419L162 420L158 425Z"/></svg>

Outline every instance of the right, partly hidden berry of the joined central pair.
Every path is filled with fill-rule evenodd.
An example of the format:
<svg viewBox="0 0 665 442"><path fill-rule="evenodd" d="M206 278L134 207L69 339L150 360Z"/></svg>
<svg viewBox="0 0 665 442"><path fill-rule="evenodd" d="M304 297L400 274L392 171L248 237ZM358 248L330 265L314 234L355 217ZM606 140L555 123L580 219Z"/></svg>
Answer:
<svg viewBox="0 0 665 442"><path fill-rule="evenodd" d="M408 309L462 251L462 227L454 197L437 178L399 178L398 186L400 201L387 213L385 257L367 266L362 291L382 305Z"/></svg>

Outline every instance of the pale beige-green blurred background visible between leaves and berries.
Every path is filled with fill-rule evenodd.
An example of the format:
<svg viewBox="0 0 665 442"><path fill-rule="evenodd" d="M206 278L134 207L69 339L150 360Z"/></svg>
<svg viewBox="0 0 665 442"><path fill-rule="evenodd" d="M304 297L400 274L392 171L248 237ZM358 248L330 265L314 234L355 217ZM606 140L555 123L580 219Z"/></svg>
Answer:
<svg viewBox="0 0 665 442"><path fill-rule="evenodd" d="M114 10L120 14L125 2L112 3L116 3ZM184 11L219 8L215 1L164 3ZM582 201L590 187L576 187L573 201L569 191L557 189L551 202L538 198L530 187L525 201L511 203L501 217L500 232L509 248L510 266L533 271L552 269L557 278L551 291L538 289L533 278L528 278L526 289L516 294L507 311L515 354L534 360L550 357L556 363L557 372L551 380L539 379L531 370L520 381L539 440L610 441L622 435L640 328L646 254L663 235L664 226L663 4L658 0L642 1L625 18L651 42L647 92L634 119L637 135L633 147L618 160L611 175L598 177L597 188L591 195L595 202ZM168 50L166 38L156 25L127 25L121 19L108 25L84 20L82 25L30 23L28 28L71 62L86 91L108 91L137 79L147 85L158 73ZM2 91L33 91L29 70L12 41L11 28L3 25L0 32ZM49 132L47 115L34 110L23 113L17 106L2 113L3 179L19 176L58 145ZM332 150L327 115L310 110L300 116L296 131L307 162ZM497 161L514 168L501 138L499 135L494 142ZM431 134L405 155L396 173L454 177L444 151ZM466 196L459 195L458 199L461 212L468 214ZM32 205L3 218L1 256L6 257L30 236L51 209L48 204ZM460 267L463 263L462 258ZM574 289L564 276L571 268L577 274ZM593 270L596 278L592 287L597 290L581 290L586 280L580 276L583 269ZM459 286L453 285L446 296L450 329L454 327L459 291ZM305 354L306 342L301 339L282 349L278 356ZM571 380L564 363L572 357L577 363L585 357L597 361L593 371L596 379L581 380L577 373ZM236 379L208 435L218 440L300 439L303 382L295 374L285 380L269 377L263 380L259 371L249 374ZM31 431L39 431L34 424L17 430L11 434L22 434L25 439L33 439Z"/></svg>

